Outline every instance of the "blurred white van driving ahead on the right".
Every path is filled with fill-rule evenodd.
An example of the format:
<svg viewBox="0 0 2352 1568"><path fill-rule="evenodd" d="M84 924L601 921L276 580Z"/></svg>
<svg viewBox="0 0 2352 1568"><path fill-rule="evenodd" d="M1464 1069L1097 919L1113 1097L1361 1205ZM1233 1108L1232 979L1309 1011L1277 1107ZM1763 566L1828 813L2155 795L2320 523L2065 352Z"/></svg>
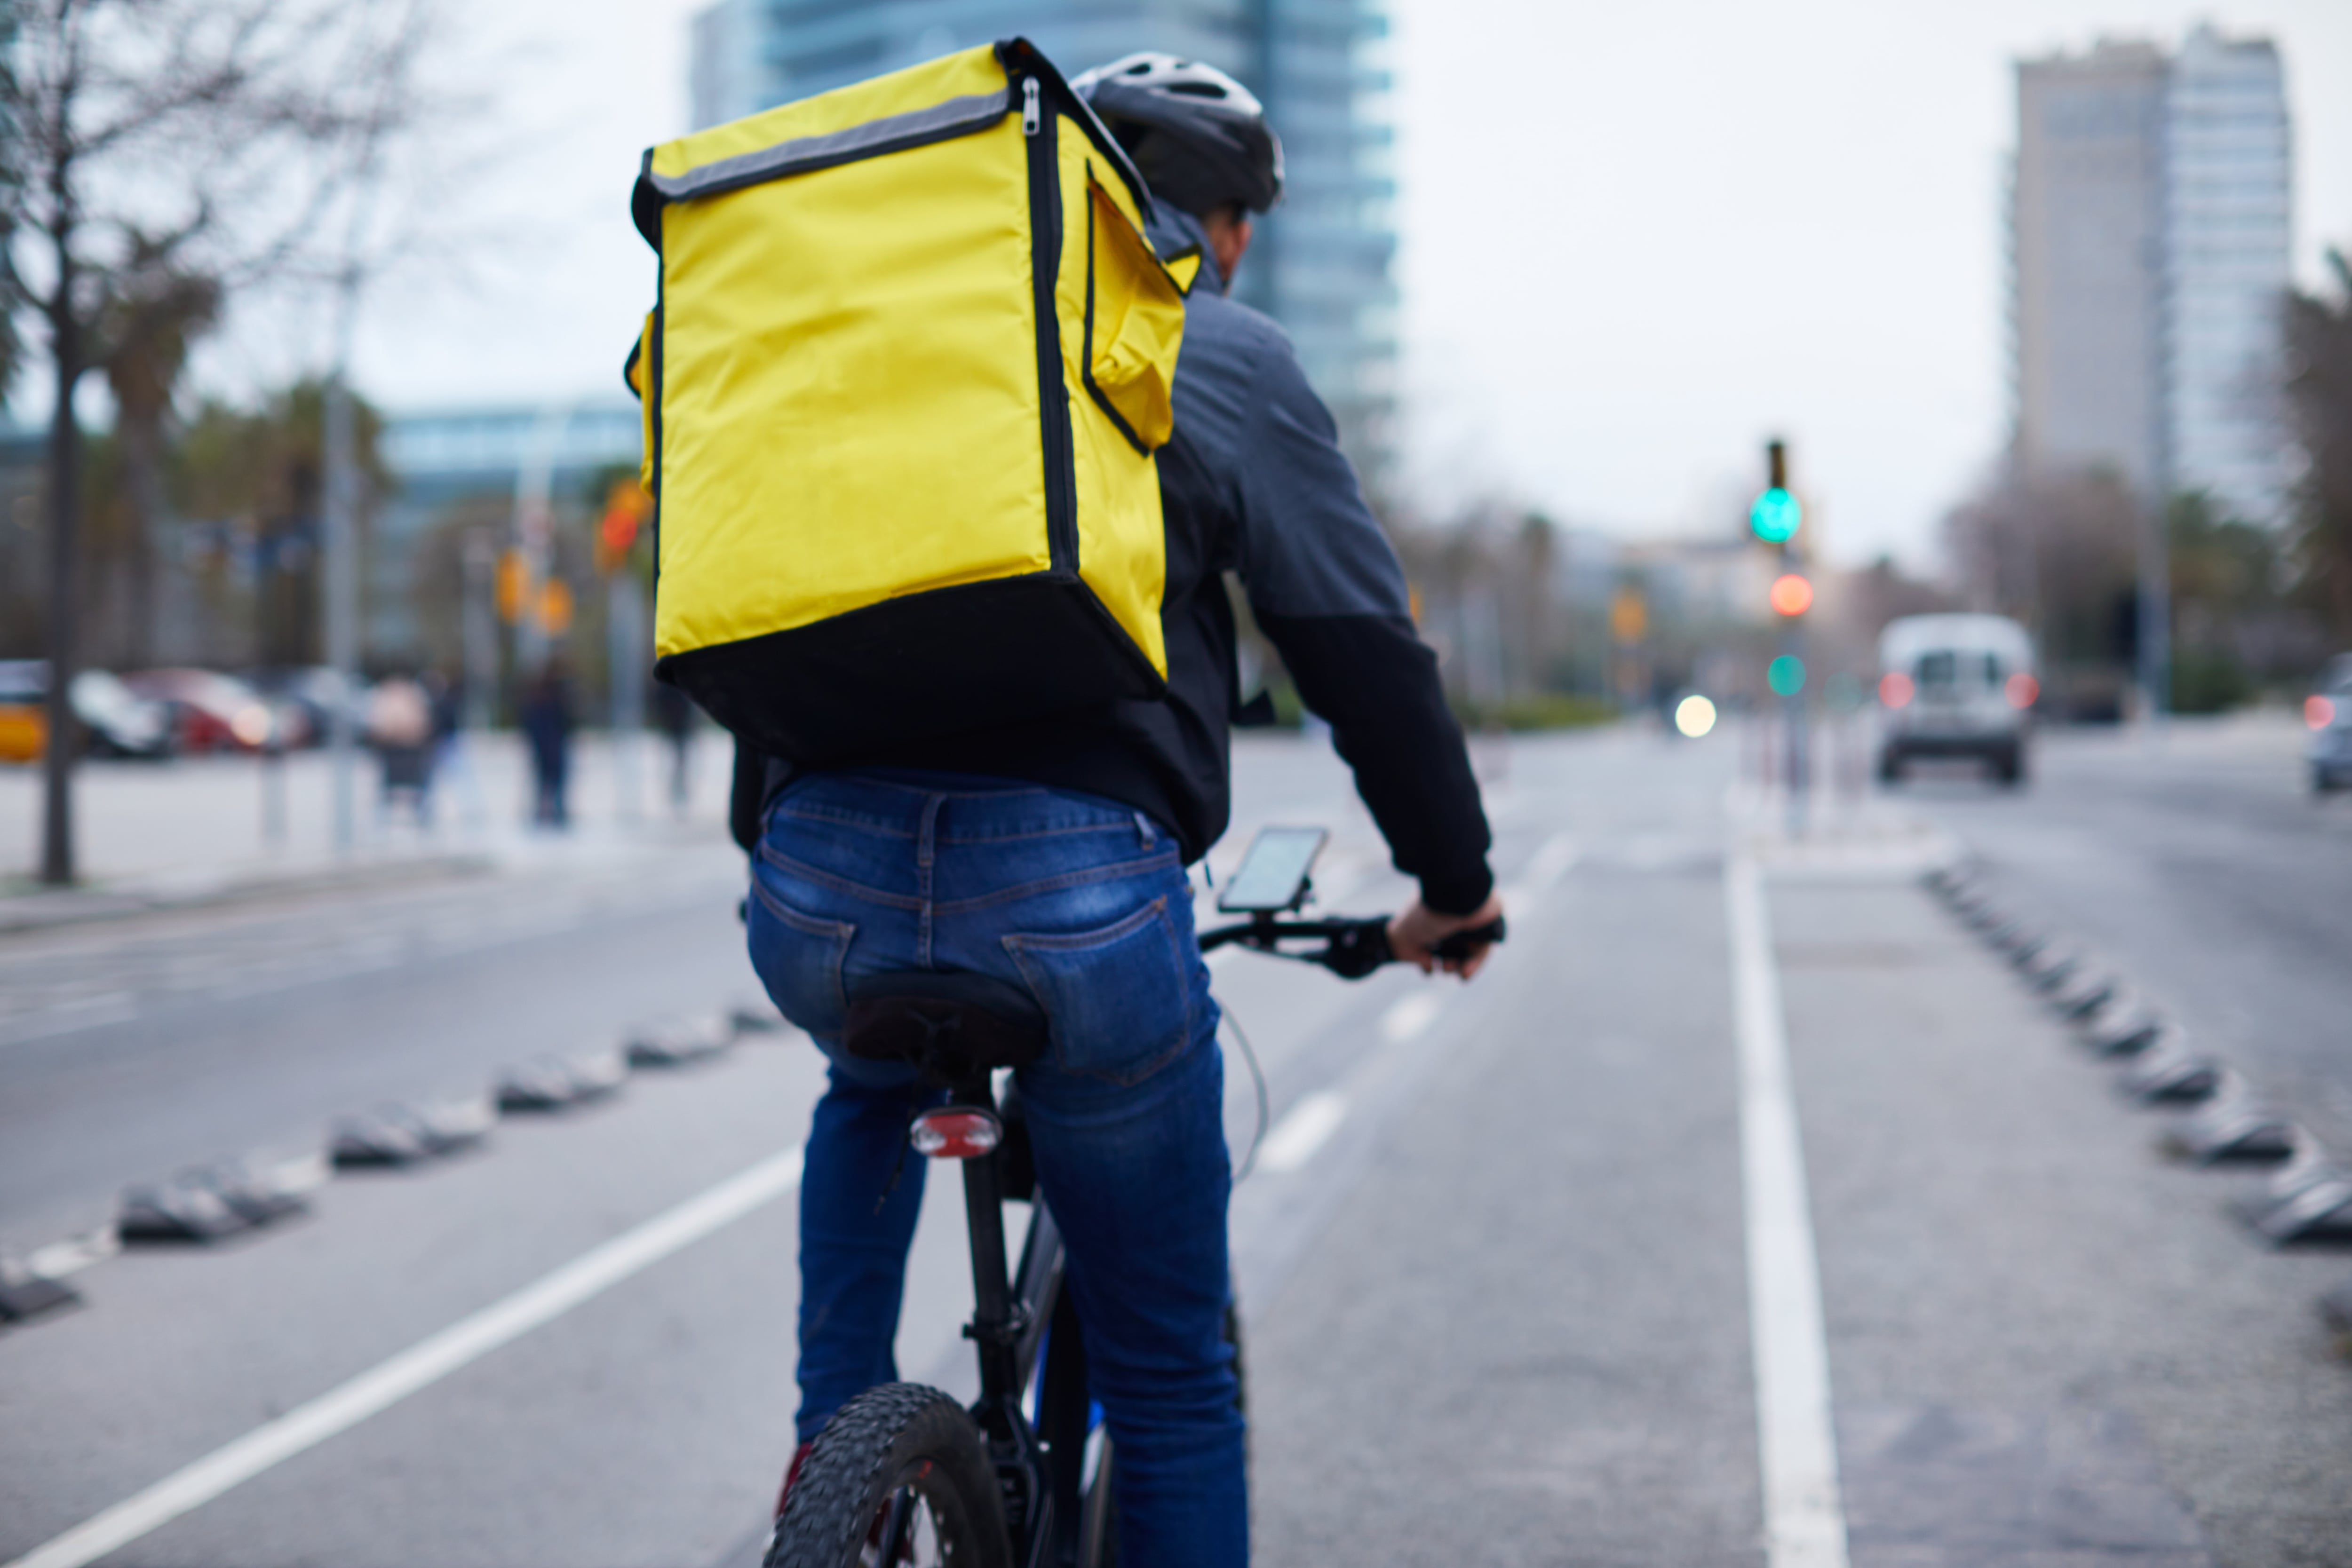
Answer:
<svg viewBox="0 0 2352 1568"><path fill-rule="evenodd" d="M2037 696L2034 644L2016 621L1889 621L1879 632L1879 778L1903 778L1912 757L1976 757L2018 783Z"/></svg>

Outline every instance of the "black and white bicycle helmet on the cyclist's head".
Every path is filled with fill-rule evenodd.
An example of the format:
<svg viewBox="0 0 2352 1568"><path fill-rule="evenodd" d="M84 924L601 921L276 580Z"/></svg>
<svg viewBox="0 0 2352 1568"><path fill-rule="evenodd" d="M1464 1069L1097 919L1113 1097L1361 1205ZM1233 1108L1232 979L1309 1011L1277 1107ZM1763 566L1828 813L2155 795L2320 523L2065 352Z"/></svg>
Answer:
<svg viewBox="0 0 2352 1568"><path fill-rule="evenodd" d="M1183 212L1265 212L1282 200L1282 141L1265 106L1216 66L1129 54L1070 87L1136 160L1152 195Z"/></svg>

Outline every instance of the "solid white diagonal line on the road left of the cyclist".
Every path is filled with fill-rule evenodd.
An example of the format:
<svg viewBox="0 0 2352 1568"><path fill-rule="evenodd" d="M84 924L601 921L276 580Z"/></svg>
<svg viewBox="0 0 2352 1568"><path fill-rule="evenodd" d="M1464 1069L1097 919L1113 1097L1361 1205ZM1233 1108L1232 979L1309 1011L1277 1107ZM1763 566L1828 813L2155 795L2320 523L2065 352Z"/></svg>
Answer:
<svg viewBox="0 0 2352 1568"><path fill-rule="evenodd" d="M118 1552L181 1514L212 1502L233 1486L252 1481L273 1465L358 1427L369 1415L400 1403L419 1389L433 1387L501 1345L560 1319L581 1302L602 1295L623 1279L701 1241L710 1232L741 1220L797 1185L800 1150L790 1147L781 1154L769 1154L677 1208L659 1213L644 1225L581 1253L506 1300L482 1307L428 1340L419 1340L390 1361L381 1361L310 1403L287 1410L263 1427L254 1427L233 1443L214 1448L202 1460L165 1476L134 1497L125 1497L64 1535L33 1547L5 1568L82 1568L85 1563L94 1563L108 1552Z"/></svg>

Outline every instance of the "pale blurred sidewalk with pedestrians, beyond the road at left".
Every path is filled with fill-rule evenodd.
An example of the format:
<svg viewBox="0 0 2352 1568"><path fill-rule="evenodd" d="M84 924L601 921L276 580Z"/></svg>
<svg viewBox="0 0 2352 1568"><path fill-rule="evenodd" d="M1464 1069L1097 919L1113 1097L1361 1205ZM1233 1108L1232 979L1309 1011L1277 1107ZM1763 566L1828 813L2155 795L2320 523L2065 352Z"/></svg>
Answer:
<svg viewBox="0 0 2352 1568"><path fill-rule="evenodd" d="M353 769L355 842L334 844L334 762L301 752L92 762L75 771L82 884L42 889L40 769L0 769L0 933L289 889L428 879L630 856L727 830L729 743L696 733L689 795L670 806L659 736L616 750L583 733L572 755L572 830L529 825L529 764L513 733L468 736L435 778L433 825L379 811L376 759Z"/></svg>

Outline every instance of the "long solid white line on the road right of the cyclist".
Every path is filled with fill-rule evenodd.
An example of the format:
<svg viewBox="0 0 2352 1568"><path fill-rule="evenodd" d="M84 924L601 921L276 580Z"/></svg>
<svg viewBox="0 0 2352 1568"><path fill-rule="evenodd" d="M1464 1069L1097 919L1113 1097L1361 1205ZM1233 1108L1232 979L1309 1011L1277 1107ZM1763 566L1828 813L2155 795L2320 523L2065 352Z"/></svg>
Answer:
<svg viewBox="0 0 2352 1568"><path fill-rule="evenodd" d="M1837 1488L1830 1347L1820 1326L1804 1145L1764 875L1748 856L1731 856L1724 865L1724 910L1740 1051L1748 1338L1757 1380L1764 1544L1771 1568L1846 1568L1846 1509Z"/></svg>

